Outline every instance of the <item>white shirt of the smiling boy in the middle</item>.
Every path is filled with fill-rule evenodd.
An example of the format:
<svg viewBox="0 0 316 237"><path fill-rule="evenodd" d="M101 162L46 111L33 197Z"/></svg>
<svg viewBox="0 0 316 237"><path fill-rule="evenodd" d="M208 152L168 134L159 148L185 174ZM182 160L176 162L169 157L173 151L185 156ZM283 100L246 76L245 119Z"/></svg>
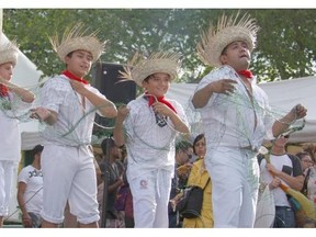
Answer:
<svg viewBox="0 0 316 237"><path fill-rule="evenodd" d="M168 100L177 114L188 125L188 120L180 103ZM129 114L124 121L127 134L127 173L131 179L157 169L174 171L174 139L176 132L170 119L168 125L160 127L156 124L153 108L143 97L127 104Z"/></svg>

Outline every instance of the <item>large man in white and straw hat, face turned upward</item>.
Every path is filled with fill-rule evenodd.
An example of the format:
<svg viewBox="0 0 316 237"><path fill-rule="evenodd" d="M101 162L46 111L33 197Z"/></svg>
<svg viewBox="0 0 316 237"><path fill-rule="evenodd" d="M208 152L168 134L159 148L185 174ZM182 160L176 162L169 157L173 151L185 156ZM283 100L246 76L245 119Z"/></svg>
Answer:
<svg viewBox="0 0 316 237"><path fill-rule="evenodd" d="M198 45L201 59L217 67L193 94L205 128L205 165L213 190L214 227L252 227L259 187L257 151L263 138L280 135L306 110L295 105L272 119L267 94L248 70L258 26L248 14L223 15Z"/></svg>

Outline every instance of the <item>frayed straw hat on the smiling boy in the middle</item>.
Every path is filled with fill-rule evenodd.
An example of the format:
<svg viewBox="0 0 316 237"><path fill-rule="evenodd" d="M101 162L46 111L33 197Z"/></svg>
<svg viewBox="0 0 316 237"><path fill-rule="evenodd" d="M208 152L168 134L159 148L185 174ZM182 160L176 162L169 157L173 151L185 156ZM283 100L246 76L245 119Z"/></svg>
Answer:
<svg viewBox="0 0 316 237"><path fill-rule="evenodd" d="M127 63L127 67L124 67L125 71L120 72L122 78L132 79L139 87L148 76L158 72L168 74L173 80L180 68L180 54L171 52L153 53L148 58L136 53Z"/></svg>

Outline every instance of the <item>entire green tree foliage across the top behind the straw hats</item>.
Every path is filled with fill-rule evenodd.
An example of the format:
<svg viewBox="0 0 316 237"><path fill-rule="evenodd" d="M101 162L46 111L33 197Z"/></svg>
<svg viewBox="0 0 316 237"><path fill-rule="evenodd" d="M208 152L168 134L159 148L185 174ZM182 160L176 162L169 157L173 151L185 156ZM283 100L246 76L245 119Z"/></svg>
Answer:
<svg viewBox="0 0 316 237"><path fill-rule="evenodd" d="M178 81L198 82L212 68L196 56L202 31L234 9L4 9L3 31L16 38L20 49L44 75L59 74L64 65L52 50L48 36L78 21L108 41L101 60L125 64L136 50L158 48L183 54ZM315 74L316 10L241 10L257 19L261 30L251 69L259 81L273 81ZM313 67L314 64L314 67Z"/></svg>

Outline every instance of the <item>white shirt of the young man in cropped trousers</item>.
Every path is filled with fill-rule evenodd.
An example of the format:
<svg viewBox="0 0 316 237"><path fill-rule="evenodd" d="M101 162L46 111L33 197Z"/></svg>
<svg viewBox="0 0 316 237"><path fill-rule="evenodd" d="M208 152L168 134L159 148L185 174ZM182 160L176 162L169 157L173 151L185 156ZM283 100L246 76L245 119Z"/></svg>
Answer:
<svg viewBox="0 0 316 237"><path fill-rule="evenodd" d="M93 93L104 97L90 84L86 87ZM60 75L45 82L41 90L41 103L42 106L58 114L56 123L46 126L42 134L45 144L80 146L91 143L97 108L87 98L84 102L82 101L66 76Z"/></svg>

